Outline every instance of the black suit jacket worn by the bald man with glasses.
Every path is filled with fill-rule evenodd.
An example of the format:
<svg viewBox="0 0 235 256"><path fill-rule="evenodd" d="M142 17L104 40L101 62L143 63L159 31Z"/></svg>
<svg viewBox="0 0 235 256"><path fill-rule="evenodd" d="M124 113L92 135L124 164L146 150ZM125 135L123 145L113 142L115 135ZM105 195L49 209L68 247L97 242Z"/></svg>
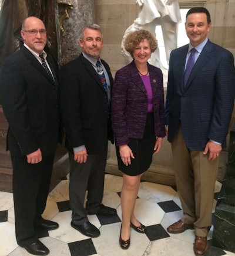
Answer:
<svg viewBox="0 0 235 256"><path fill-rule="evenodd" d="M27 155L38 148L42 155L51 155L58 145L58 81L50 55L47 61L55 81L24 46L2 65L0 99L9 124L7 149L12 155Z"/></svg>

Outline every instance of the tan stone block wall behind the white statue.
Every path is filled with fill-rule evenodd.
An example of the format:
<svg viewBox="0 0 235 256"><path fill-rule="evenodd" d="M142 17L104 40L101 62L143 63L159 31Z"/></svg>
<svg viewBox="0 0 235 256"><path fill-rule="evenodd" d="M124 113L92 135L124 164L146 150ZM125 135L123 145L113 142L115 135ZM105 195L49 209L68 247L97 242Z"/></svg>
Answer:
<svg viewBox="0 0 235 256"><path fill-rule="evenodd" d="M209 38L233 52L235 56L235 1L234 0L178 0L181 8L203 5L209 9L212 28ZM136 0L95 0L96 23L102 27L104 47L102 57L109 63L112 74L128 61L121 54L122 37L126 29L138 17L140 8ZM182 17L182 21L185 17Z"/></svg>

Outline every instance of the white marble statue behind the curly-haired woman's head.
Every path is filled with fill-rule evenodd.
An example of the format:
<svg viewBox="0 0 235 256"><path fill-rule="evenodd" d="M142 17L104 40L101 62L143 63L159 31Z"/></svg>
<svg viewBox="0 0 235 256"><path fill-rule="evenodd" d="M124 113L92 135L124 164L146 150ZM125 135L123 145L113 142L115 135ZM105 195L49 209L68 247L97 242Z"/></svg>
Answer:
<svg viewBox="0 0 235 256"><path fill-rule="evenodd" d="M125 51L124 41L129 32L136 29L146 29L156 35L157 25L161 25L167 64L170 52L177 47L177 23L181 22L179 2L174 0L136 0L141 7L138 17L125 31L122 40L122 55L131 61L129 52ZM157 35L156 35L157 38ZM160 61L159 48L152 54L150 64L164 68Z"/></svg>

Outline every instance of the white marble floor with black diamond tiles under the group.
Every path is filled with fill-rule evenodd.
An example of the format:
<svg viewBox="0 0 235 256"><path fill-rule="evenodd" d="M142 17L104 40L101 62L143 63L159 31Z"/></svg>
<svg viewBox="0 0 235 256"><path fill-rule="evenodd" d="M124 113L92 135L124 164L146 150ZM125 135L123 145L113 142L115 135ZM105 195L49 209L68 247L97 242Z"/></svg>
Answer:
<svg viewBox="0 0 235 256"><path fill-rule="evenodd" d="M216 182L216 196L221 184ZM40 231L39 239L49 248L51 256L193 256L194 231L169 234L166 228L180 219L182 209L176 188L151 182L140 184L136 202L136 217L147 227L146 234L131 229L131 244L128 250L119 247L120 191L122 177L105 175L103 204L116 208L117 216L101 217L88 215L89 221L100 229L100 237L89 238L70 226L69 179L61 180L48 196L43 218L59 223L53 231ZM213 226L209 233L207 256L233 255L212 245ZM15 240L14 203L12 193L0 192L0 256L31 255L19 247Z"/></svg>

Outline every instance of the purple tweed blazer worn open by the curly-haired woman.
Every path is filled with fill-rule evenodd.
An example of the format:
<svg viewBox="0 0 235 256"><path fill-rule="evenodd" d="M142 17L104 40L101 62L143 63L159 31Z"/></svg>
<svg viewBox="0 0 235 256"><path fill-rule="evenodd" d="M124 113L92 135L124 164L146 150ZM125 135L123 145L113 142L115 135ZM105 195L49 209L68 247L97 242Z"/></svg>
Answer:
<svg viewBox="0 0 235 256"><path fill-rule="evenodd" d="M148 64L153 93L155 135L165 136L163 75ZM129 138L142 139L147 117L147 91L134 61L117 70L112 90L112 127L116 146L127 145Z"/></svg>

